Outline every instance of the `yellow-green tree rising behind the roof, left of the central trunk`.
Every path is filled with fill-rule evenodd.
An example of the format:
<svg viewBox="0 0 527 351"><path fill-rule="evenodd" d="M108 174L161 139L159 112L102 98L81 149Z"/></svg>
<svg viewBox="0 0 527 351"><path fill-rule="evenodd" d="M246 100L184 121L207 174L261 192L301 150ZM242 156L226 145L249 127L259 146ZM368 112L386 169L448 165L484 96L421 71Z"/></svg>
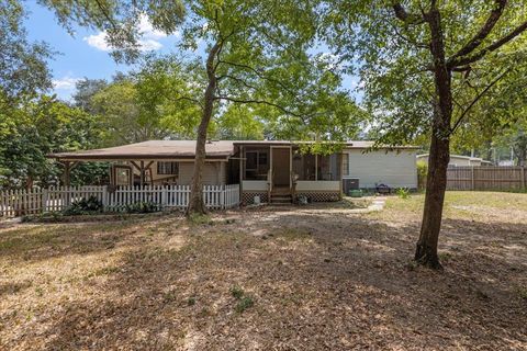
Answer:
<svg viewBox="0 0 527 351"><path fill-rule="evenodd" d="M168 137L189 138L195 133L199 109L179 95L195 95L192 72L173 56L148 55L137 67L88 97L85 111L104 125L102 144L115 146ZM89 99L87 99L89 98Z"/></svg>

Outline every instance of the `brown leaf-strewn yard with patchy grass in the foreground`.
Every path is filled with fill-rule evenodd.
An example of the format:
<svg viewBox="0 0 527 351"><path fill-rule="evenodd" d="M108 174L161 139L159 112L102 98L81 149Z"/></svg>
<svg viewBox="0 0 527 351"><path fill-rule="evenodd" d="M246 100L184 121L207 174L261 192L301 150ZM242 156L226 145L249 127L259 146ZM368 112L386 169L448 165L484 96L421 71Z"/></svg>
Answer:
<svg viewBox="0 0 527 351"><path fill-rule="evenodd" d="M442 272L422 203L4 225L0 349L526 350L527 194L449 193Z"/></svg>

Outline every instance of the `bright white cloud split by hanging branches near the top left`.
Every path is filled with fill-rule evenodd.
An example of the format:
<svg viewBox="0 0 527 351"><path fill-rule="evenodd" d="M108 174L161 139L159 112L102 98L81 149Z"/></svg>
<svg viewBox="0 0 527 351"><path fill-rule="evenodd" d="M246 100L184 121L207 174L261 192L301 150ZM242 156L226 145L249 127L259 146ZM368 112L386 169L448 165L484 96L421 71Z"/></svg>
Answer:
<svg viewBox="0 0 527 351"><path fill-rule="evenodd" d="M142 52L158 50L162 47L162 44L159 42L159 39L167 37L167 34L154 29L146 15L141 15L137 29L141 34L141 39L138 41L138 44ZM179 36L179 33L176 32L175 35ZM110 44L108 44L105 31L99 32L98 34L85 36L82 39L87 42L88 45L99 50L112 50L112 47L110 46Z"/></svg>

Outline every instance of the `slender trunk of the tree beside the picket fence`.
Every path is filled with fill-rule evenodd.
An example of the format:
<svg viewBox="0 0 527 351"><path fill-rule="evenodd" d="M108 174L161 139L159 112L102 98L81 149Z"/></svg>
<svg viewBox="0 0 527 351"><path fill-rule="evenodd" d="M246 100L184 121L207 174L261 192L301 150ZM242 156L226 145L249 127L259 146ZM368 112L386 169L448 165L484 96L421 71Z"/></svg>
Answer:
<svg viewBox="0 0 527 351"><path fill-rule="evenodd" d="M205 167L205 145L206 145L206 132L211 122L212 113L214 110L214 94L217 84L217 78L215 72L215 57L221 48L221 43L216 43L209 53L206 59L206 75L209 78L209 84L205 89L203 97L203 112L201 115L200 126L198 127L198 137L195 140L195 158L194 158L194 171L192 174L192 183L190 188L190 199L187 206L186 215L191 214L205 214L206 206L203 201L203 182L202 174Z"/></svg>

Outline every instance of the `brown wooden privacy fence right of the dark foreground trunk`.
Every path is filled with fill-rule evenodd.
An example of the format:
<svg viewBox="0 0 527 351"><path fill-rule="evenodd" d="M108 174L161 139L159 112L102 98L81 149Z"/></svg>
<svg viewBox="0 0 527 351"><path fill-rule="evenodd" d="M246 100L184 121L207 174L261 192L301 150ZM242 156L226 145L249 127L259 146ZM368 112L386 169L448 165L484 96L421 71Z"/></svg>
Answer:
<svg viewBox="0 0 527 351"><path fill-rule="evenodd" d="M525 167L450 167L447 190L526 190Z"/></svg>

